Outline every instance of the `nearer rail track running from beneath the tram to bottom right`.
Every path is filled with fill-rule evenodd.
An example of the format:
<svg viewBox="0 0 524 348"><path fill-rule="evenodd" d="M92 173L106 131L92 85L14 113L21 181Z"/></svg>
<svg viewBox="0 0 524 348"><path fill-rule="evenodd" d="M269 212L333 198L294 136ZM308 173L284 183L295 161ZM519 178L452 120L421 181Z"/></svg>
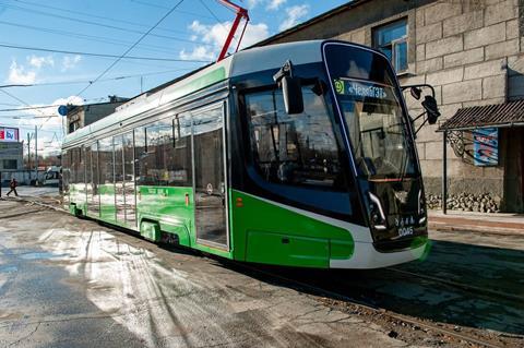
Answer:
<svg viewBox="0 0 524 348"><path fill-rule="evenodd" d="M266 277L270 277L270 278L273 278L273 279L278 279L281 281L284 281L284 283L287 283L287 284L290 284L290 285L295 285L295 286L297 286L297 288L302 288L302 289L309 290L310 292L317 293L319 296L326 296L326 297L330 297L330 298L335 299L335 300L341 300L341 301L347 302L352 305L355 305L358 309L370 311L370 312L374 313L376 315L384 315L384 316L388 316L389 319L391 319L392 321L398 321L401 323L412 325L412 327L420 327L420 328L426 328L428 331L438 332L438 333L444 335L444 338L445 338L445 336L450 336L450 337L453 337L454 339L457 339L460 341L465 341L465 343L468 343L469 345L474 345L475 347L486 347L486 348L505 348L505 347L509 347L503 343L493 344L491 341L487 341L485 339L473 337L468 334L457 332L454 328L446 328L446 327L443 326L443 325L450 325L451 326L451 324L440 324L439 325L438 323L432 323L432 322L424 321L424 320L420 320L420 319L417 319L417 317L394 313L394 312L392 312L392 311L390 311L385 308L381 308L380 305L373 304L371 301L357 299L357 298L354 298L354 297L350 297L350 296L347 296L347 295L344 295L344 293L341 293L341 292L337 292L337 291L334 291L334 290L330 290L330 289L326 289L326 288L323 288L323 287L319 287L319 286L315 286L315 285L312 285L312 284L308 284L308 283L305 283L305 281L301 281L301 280L298 280L298 279L293 279L290 277L283 276L281 274L276 274L276 273L272 273L272 272L269 272L269 271L260 269L258 267L253 267L253 266L250 266L248 264L237 263L237 262L233 262L233 263L237 267L240 267L240 268L247 269L249 272L252 272L252 273L255 273L255 274L259 274L259 275L263 275L263 276L266 276ZM521 337L520 336L519 337L517 336L512 336L510 338L521 338ZM450 343L450 344L453 344L453 343Z"/></svg>

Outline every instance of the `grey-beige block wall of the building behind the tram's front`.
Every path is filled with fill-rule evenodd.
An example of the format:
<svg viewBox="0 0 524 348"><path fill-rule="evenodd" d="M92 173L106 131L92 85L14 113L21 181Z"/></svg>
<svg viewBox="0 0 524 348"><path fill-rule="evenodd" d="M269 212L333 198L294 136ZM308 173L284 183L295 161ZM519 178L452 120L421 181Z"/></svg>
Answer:
<svg viewBox="0 0 524 348"><path fill-rule="evenodd" d="M524 97L523 0L369 1L276 41L337 38L372 46L373 27L404 17L409 69L398 76L400 82L432 84L442 112L440 122L463 107ZM412 113L418 115L419 104L406 99ZM441 191L442 134L437 129L426 125L417 137L429 193ZM503 146L508 134L501 132L501 158L511 148ZM503 201L504 191L514 191L508 181L504 184L504 160L498 167L475 167L455 156L450 146L448 158L451 193L491 193ZM513 205L505 206L511 209Z"/></svg>

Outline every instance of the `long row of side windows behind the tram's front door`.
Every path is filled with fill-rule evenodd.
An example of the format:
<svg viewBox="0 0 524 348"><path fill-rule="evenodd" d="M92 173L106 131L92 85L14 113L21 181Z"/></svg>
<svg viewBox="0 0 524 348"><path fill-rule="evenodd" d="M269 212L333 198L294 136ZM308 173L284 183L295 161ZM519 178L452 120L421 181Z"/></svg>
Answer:
<svg viewBox="0 0 524 348"><path fill-rule="evenodd" d="M64 151L64 184L191 187L191 119L179 116Z"/></svg>

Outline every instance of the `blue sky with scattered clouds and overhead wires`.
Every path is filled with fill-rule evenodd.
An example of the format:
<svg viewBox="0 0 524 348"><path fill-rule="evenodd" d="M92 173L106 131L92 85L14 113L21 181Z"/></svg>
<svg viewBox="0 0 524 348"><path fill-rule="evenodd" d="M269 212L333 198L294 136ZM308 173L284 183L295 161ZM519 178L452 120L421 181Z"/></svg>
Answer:
<svg viewBox="0 0 524 348"><path fill-rule="evenodd" d="M25 141L37 125L38 152L57 154L59 105L133 97L216 60L235 13L216 0L179 2L0 0L0 125ZM240 47L346 2L237 0L250 15ZM124 53L133 58L118 60Z"/></svg>

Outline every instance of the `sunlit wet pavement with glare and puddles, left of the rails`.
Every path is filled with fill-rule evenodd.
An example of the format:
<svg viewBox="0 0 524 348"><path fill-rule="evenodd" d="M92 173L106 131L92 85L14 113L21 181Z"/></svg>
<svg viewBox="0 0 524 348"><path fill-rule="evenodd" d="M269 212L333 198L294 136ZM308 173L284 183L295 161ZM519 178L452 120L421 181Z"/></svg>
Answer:
<svg viewBox="0 0 524 348"><path fill-rule="evenodd" d="M410 346L388 334L218 261L0 201L0 346Z"/></svg>

